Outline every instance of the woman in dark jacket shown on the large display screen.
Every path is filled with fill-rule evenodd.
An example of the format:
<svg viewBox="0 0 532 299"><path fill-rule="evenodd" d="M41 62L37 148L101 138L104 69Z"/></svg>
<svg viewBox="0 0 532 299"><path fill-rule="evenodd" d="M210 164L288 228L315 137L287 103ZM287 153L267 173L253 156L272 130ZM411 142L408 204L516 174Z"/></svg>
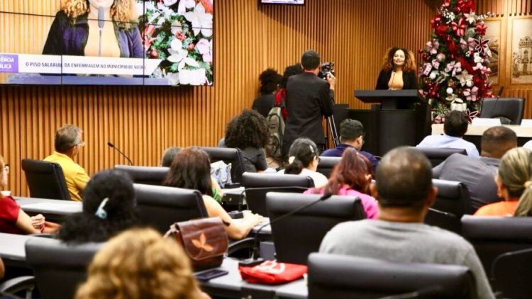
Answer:
<svg viewBox="0 0 532 299"><path fill-rule="evenodd" d="M135 0L63 0L43 54L144 57L136 18Z"/></svg>

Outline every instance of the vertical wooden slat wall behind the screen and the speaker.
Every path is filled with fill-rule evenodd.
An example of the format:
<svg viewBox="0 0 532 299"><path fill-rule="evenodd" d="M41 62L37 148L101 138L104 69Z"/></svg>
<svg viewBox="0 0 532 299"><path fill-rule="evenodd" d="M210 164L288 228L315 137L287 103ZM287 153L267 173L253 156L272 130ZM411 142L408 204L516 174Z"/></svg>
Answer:
<svg viewBox="0 0 532 299"><path fill-rule="evenodd" d="M251 106L260 72L267 67L282 72L299 61L306 49L320 52L323 61L336 62L338 103L367 108L353 98L353 90L374 88L388 47L414 51L423 47L431 34L429 21L440 4L435 0L307 0L306 6L297 7L260 6L256 0L214 1L213 87L0 86L0 152L12 165L9 189L13 194L28 195L18 166L21 159L50 154L55 129L65 123L84 130L87 145L77 162L89 174L125 163L106 146L107 141L138 165L158 164L162 151L172 145L214 146L226 122ZM4 0L0 11L30 9L53 16L58 2ZM506 16L529 10L530 3L481 0L477 6L479 11ZM1 28L13 28L14 18L21 17L2 13ZM33 28L31 40L18 38L14 33L18 28L13 28L13 33L0 38L0 52L29 45L31 51L40 52L52 21L45 19L25 18L24 26ZM506 96L511 93L532 96L526 87L509 90Z"/></svg>

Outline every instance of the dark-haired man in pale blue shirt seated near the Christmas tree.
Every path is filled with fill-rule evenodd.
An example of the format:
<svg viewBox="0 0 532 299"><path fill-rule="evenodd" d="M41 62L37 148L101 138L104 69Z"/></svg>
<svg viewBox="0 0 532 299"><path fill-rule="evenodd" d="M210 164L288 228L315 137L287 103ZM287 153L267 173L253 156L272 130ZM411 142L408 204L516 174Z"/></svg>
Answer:
<svg viewBox="0 0 532 299"><path fill-rule="evenodd" d="M471 142L462 139L467 132L467 116L461 111L450 111L445 115L443 135L428 135L417 147L438 147L465 149L470 157L480 157L477 147Z"/></svg>

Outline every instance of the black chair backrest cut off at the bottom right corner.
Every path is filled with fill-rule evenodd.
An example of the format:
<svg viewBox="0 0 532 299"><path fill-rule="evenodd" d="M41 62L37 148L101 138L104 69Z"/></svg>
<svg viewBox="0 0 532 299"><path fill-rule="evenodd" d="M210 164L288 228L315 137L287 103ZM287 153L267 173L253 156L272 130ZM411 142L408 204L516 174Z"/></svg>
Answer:
<svg viewBox="0 0 532 299"><path fill-rule="evenodd" d="M532 248L506 252L492 265L492 281L495 292L501 298L532 298Z"/></svg>

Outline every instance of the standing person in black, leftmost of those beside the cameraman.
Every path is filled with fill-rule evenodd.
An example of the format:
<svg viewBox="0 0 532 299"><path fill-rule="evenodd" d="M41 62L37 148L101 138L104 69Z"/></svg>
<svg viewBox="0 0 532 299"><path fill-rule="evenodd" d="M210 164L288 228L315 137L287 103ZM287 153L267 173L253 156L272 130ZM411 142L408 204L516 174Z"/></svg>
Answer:
<svg viewBox="0 0 532 299"><path fill-rule="evenodd" d="M281 83L281 75L275 69L260 73L260 96L253 101L253 110L266 117L275 106L275 92Z"/></svg>

